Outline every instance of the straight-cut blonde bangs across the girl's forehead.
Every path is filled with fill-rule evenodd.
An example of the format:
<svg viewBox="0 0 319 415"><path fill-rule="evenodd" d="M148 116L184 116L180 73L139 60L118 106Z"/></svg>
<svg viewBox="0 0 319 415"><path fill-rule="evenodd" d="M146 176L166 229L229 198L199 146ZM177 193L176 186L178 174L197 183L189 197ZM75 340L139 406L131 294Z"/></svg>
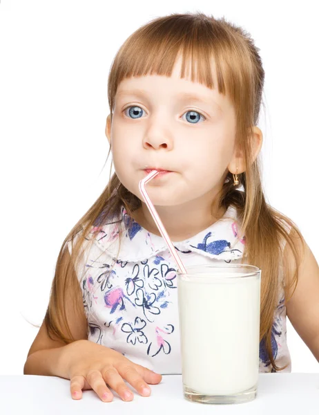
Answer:
<svg viewBox="0 0 319 415"><path fill-rule="evenodd" d="M114 59L108 79L110 109L114 109L122 80L144 75L170 77L179 58L181 78L190 77L192 82L217 88L222 94L231 93L238 73L238 65L227 64L225 50L231 45L229 33L213 17L171 15L150 21L126 39Z"/></svg>

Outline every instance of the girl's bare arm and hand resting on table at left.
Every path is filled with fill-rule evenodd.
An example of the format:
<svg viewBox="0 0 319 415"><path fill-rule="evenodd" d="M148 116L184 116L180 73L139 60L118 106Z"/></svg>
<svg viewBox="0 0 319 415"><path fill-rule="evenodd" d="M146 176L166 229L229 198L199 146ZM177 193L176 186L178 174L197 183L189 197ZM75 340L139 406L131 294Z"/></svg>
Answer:
<svg viewBox="0 0 319 415"><path fill-rule="evenodd" d="M69 257L70 254L66 250L61 259L61 266L66 264ZM77 278L74 268L70 278ZM118 351L87 339L87 321L81 288L79 284L75 286L76 290L74 288L72 290L72 284L71 286L66 284L68 301L63 306L74 341L64 344L60 339L53 338L51 335L52 340L43 322L30 347L23 374L70 379L70 393L74 399L81 399L82 389L93 389L101 400L110 402L113 400L113 393L109 388L112 388L123 400L132 400L132 391L124 380L142 396L151 394L148 383L152 385L159 383L162 380L160 374L155 374L146 367L131 362ZM75 296L76 303L81 305L80 307L73 308L72 296ZM66 332L63 324L61 331Z"/></svg>

